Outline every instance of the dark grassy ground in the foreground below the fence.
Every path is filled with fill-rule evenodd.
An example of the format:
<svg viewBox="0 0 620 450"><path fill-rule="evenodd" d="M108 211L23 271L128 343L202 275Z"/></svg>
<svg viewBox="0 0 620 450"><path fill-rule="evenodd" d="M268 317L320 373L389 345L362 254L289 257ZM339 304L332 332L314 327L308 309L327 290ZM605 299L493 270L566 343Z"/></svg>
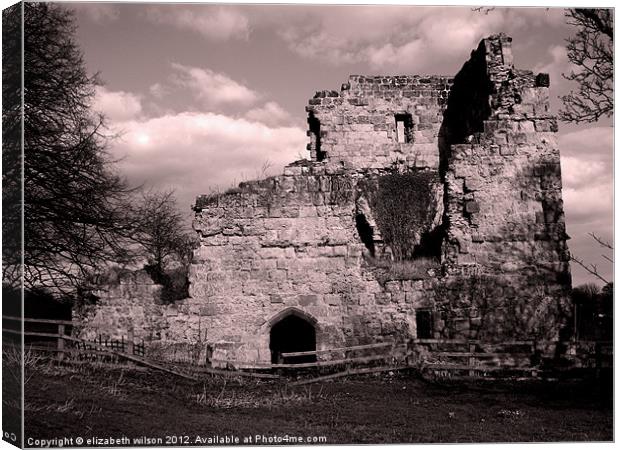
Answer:
<svg viewBox="0 0 620 450"><path fill-rule="evenodd" d="M26 386L25 425L26 439L187 436L177 439L189 444L214 435L255 443L257 434L324 436L328 444L613 438L611 382L465 385L410 374L284 388L52 366Z"/></svg>

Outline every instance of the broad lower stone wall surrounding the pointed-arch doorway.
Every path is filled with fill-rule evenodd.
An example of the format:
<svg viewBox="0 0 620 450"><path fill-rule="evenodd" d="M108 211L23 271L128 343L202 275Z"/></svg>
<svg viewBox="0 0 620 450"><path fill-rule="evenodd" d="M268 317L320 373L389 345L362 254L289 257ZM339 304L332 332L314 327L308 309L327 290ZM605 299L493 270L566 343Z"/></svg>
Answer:
<svg viewBox="0 0 620 450"><path fill-rule="evenodd" d="M364 176L300 162L198 200L201 247L187 305L209 342L229 358L269 361L270 326L290 308L316 320L319 349L415 333L416 297L386 292L362 256L355 217ZM169 320L173 330L186 317Z"/></svg>

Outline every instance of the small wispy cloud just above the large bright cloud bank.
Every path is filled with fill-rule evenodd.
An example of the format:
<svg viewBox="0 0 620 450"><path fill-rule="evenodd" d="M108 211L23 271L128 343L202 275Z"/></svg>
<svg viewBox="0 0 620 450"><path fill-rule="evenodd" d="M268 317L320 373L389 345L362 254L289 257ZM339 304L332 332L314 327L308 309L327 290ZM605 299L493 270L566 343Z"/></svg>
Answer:
<svg viewBox="0 0 620 450"><path fill-rule="evenodd" d="M259 98L258 93L223 73L177 63L173 63L172 67L176 71L172 78L173 83L191 89L206 106L248 106Z"/></svg>

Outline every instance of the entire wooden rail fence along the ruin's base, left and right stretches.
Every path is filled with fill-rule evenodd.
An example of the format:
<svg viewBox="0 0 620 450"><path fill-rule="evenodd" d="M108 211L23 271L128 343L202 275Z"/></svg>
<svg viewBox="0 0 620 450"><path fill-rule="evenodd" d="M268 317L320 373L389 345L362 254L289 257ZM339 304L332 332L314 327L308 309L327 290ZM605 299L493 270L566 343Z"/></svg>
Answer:
<svg viewBox="0 0 620 450"><path fill-rule="evenodd" d="M3 316L3 320L26 324L44 324L57 327L55 332L33 331L25 329L23 334L36 340L28 348L35 351L54 353L59 360L71 354L77 359L92 360L97 358L128 359L134 355L146 363L144 342L135 342L132 333L127 338L112 340L99 336L94 340L79 339L71 335L78 324L65 320L22 319ZM31 327L28 327L31 328ZM21 335L21 330L4 328L3 333ZM45 345L47 344L47 345ZM448 377L492 377L497 372L520 374L537 377L546 369L545 358L557 352L564 358L572 358L575 367L595 369L597 375L601 369L612 367L612 341L505 341L489 343L477 340L454 339L409 339L404 342L381 342L333 349L321 349L306 352L288 352L278 355L278 363L247 362L212 359L213 367L249 370L290 370L321 369L341 370L341 372L320 376L318 379L336 378L346 374L373 373L384 370L417 369L427 374L439 374ZM116 355L116 356L114 356ZM291 363L299 357L315 357L316 361ZM135 358L134 358L135 359ZM171 361L151 361L161 368ZM148 365L148 364L147 364ZM161 366L161 367L160 367ZM216 370L206 368L205 370ZM555 370L555 369L554 369ZM340 375L339 375L340 374Z"/></svg>

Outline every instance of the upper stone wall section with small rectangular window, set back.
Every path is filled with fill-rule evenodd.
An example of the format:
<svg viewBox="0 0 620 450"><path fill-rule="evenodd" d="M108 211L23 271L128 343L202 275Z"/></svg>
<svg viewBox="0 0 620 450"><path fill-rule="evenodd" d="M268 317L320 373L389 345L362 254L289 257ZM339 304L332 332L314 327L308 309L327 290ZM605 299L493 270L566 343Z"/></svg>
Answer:
<svg viewBox="0 0 620 450"><path fill-rule="evenodd" d="M439 166L439 130L452 79L352 75L309 101L314 161L352 169Z"/></svg>

